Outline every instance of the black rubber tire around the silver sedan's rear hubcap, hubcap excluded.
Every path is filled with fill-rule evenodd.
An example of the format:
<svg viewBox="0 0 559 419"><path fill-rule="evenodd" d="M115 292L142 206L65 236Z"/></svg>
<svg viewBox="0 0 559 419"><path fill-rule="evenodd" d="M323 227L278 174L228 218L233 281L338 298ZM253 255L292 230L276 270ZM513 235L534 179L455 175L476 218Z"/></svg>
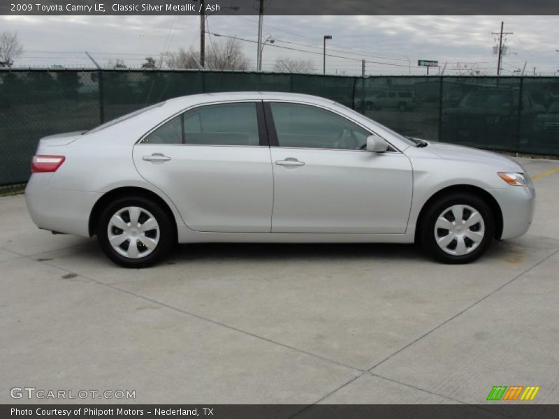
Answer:
<svg viewBox="0 0 559 419"><path fill-rule="evenodd" d="M115 213L126 207L140 207L140 209L149 212L159 225L159 241L157 242L157 246L151 251L151 253L147 254L147 256L138 258L126 257L118 253L109 242L108 228L110 219ZM126 212L124 212L124 214L126 214ZM147 213L141 213L140 217L145 216L145 214ZM108 258L110 258L110 260L124 267L140 268L152 266L168 255L175 243L174 231L175 223L167 212L161 208L161 205L155 203L150 198L145 198L143 196L124 196L115 199L103 210L101 216L99 216L99 222L97 223L96 235L99 246ZM141 238L138 238L141 241ZM124 244L124 246L126 245ZM145 248L145 244L140 242L137 248L143 249Z"/></svg>

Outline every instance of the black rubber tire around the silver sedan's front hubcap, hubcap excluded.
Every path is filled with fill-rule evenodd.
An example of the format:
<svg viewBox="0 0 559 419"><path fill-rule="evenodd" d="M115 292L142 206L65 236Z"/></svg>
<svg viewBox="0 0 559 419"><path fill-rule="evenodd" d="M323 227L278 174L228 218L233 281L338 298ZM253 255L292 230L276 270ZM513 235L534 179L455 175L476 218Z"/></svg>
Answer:
<svg viewBox="0 0 559 419"><path fill-rule="evenodd" d="M463 255L453 255L447 253L447 251L456 251L455 249L451 249L453 243L456 242L455 239L453 240L448 247L446 247L447 251L444 251L442 247L437 244L437 237L435 235L441 235L443 237L446 234L450 234L450 230L446 230L444 228L439 228L435 232L435 223L439 216L445 210L449 209L453 205L467 205L467 207L473 208L475 211L479 212L481 215L481 219L483 220L484 224L484 235L483 239L479 242L479 244L474 244L469 238L463 239L466 243L467 249L473 250L469 251L470 253L466 253ZM472 212L470 210L465 209L463 212L465 217L472 216ZM470 215L468 215L470 214ZM445 213L445 218L449 217L451 220L453 219L453 214L451 212ZM479 198L479 196L474 195L473 193L449 193L447 195L441 196L437 198L433 203L430 203L429 206L426 208L426 212L422 217L421 226L418 226L420 230L420 243L428 253L430 253L433 258L439 260L442 263L449 263L449 264L460 264L460 263L470 263L479 258L483 255L487 249L491 246L491 242L493 242L493 237L495 236L495 217L491 208L487 205L487 203ZM447 218L448 220L448 218ZM465 219L467 222L467 218ZM468 228L468 230L477 233L475 229L481 229L481 223L475 224L474 226ZM465 229L465 228L463 228ZM439 238L441 238L439 237ZM450 236L449 236L450 237ZM471 242L471 243L468 243ZM470 245L468 247L468 244Z"/></svg>

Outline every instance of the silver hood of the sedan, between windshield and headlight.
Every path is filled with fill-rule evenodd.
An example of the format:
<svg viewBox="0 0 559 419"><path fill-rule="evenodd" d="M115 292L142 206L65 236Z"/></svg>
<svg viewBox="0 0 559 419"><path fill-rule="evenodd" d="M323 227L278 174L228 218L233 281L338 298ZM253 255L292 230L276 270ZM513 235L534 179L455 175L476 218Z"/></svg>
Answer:
<svg viewBox="0 0 559 419"><path fill-rule="evenodd" d="M452 145L444 142L429 142L427 147L430 152L437 154L445 160L472 161L472 163L486 163L495 166L498 170L524 172L523 167L513 159L500 154L486 152L472 147Z"/></svg>

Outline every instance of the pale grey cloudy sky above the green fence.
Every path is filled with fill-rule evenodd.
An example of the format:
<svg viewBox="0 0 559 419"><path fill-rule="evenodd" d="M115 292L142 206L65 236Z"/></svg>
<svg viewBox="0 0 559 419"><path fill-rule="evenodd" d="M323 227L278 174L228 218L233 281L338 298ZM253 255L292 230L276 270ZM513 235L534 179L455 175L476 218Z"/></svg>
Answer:
<svg viewBox="0 0 559 419"><path fill-rule="evenodd" d="M441 66L447 63L445 74L458 74L465 67L494 74L497 57L491 48L497 38L491 32L500 29L501 20L505 31L514 32L506 38L509 54L503 60L504 74L513 74L528 61L526 73L536 67L536 73L559 75L559 16L265 16L263 33L275 43L264 48L263 70L270 70L277 57L292 57L310 59L321 71L322 36L328 34L333 36L328 54L336 56L327 57L328 73L361 73L361 59L365 59L370 75L424 74L417 60L430 59ZM208 25L214 34L257 38L257 16L211 16ZM0 16L0 31L17 32L24 45L17 66L89 67L91 61L84 54L88 51L102 65L124 59L138 67L146 56L196 47L199 18ZM207 48L210 41L219 38L208 36ZM256 43L248 41L240 43L256 68Z"/></svg>

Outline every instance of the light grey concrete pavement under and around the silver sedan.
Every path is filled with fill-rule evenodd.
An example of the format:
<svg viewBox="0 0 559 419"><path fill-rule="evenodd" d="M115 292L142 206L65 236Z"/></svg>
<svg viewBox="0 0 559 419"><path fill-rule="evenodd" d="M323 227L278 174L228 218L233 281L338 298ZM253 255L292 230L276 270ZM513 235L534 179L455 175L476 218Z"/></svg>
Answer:
<svg viewBox="0 0 559 419"><path fill-rule="evenodd" d="M0 403L10 388L136 390L135 403L559 402L559 161L527 235L471 265L386 244L180 246L125 270L0 198ZM86 399L110 403L114 399ZM533 403L533 402L532 402Z"/></svg>

